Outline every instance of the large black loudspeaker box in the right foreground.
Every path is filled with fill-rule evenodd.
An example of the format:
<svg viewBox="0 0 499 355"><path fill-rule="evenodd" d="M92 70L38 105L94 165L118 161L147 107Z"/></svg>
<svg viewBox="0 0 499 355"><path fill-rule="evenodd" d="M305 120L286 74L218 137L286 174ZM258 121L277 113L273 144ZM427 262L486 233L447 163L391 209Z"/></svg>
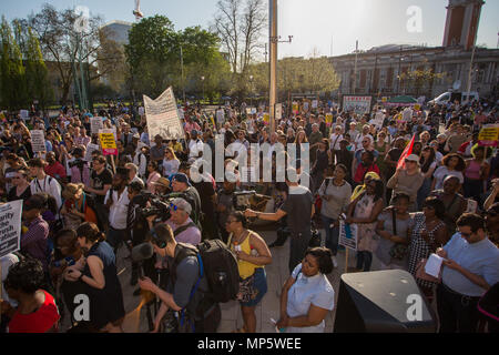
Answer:
<svg viewBox="0 0 499 355"><path fill-rule="evenodd" d="M343 274L334 333L435 333L436 316L411 274Z"/></svg>

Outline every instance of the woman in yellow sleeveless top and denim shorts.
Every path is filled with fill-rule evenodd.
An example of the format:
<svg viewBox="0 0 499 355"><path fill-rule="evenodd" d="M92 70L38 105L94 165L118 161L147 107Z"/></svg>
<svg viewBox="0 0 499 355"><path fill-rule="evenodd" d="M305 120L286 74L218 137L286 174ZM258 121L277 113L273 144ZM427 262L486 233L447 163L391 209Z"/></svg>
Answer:
<svg viewBox="0 0 499 355"><path fill-rule="evenodd" d="M246 217L243 212L233 212L225 222L231 234L228 247L237 256L240 270L240 293L244 325L236 333L255 333L255 307L267 293L267 276L264 265L272 263L272 254L265 241L255 232L246 230Z"/></svg>

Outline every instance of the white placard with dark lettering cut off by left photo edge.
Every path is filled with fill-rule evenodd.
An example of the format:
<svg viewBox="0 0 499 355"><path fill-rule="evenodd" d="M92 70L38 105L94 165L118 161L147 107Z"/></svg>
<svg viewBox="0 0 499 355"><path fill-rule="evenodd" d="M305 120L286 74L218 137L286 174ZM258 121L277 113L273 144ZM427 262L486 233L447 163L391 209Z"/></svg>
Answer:
<svg viewBox="0 0 499 355"><path fill-rule="evenodd" d="M21 248L22 200L0 205L0 257Z"/></svg>

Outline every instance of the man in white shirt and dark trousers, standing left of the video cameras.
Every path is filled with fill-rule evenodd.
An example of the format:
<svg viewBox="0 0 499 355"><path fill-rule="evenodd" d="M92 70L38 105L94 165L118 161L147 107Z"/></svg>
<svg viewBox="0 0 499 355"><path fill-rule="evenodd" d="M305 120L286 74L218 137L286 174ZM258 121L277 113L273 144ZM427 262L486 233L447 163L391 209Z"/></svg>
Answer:
<svg viewBox="0 0 499 355"><path fill-rule="evenodd" d="M118 169L113 176L112 189L105 194L104 204L109 209L108 243L114 248L114 254L122 242L126 241L126 213L129 210L129 192L126 189L129 172L126 169ZM126 244L129 246L129 244Z"/></svg>

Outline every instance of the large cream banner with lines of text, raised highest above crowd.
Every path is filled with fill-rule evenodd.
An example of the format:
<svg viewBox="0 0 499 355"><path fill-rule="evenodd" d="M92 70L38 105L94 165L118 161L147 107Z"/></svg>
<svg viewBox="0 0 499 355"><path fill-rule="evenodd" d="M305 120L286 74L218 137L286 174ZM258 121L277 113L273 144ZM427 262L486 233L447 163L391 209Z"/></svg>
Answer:
<svg viewBox="0 0 499 355"><path fill-rule="evenodd" d="M144 108L151 140L156 135L165 140L180 140L185 136L171 87L156 100L144 95Z"/></svg>

